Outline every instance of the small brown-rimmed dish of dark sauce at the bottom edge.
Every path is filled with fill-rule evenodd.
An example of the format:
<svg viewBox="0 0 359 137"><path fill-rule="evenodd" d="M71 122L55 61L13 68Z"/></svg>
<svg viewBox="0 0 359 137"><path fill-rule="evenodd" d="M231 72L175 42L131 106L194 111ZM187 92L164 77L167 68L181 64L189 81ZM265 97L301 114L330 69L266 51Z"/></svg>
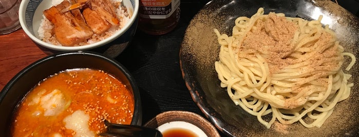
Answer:
<svg viewBox="0 0 359 137"><path fill-rule="evenodd" d="M163 137L220 136L206 119L190 111L166 111L148 121L145 127L156 128Z"/></svg>

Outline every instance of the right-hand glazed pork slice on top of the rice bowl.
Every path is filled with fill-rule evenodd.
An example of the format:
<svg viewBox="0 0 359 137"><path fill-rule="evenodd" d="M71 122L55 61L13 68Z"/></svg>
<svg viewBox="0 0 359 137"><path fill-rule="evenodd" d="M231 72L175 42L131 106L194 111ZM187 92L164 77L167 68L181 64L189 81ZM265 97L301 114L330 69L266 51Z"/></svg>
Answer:
<svg viewBox="0 0 359 137"><path fill-rule="evenodd" d="M81 3L85 0L78 0ZM109 0L89 0L88 7L82 12L87 25L96 34L102 34L113 26L119 26L115 6Z"/></svg>

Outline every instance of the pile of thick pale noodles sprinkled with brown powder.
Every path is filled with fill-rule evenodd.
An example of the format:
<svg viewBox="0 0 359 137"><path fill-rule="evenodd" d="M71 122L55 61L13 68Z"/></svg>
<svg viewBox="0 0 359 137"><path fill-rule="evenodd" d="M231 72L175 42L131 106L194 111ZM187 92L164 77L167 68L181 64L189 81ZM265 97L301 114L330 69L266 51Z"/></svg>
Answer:
<svg viewBox="0 0 359 137"><path fill-rule="evenodd" d="M215 69L236 105L270 128L278 120L288 125L320 127L337 102L347 99L353 83L343 73L345 53L334 32L318 20L264 14L238 17L232 36L220 34ZM264 120L263 116L271 116Z"/></svg>

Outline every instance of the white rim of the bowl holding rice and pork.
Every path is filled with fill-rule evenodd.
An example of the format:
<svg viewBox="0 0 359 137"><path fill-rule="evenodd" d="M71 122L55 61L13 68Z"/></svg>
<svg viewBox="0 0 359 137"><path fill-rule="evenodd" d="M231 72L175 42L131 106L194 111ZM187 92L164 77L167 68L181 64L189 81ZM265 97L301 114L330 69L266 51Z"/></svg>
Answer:
<svg viewBox="0 0 359 137"><path fill-rule="evenodd" d="M101 41L98 41L95 43L91 43L91 44L87 44L87 45L66 47L66 46L54 45L54 44L50 44L45 41L42 41L39 38L37 38L36 36L34 36L27 29L26 20L25 20L25 12L27 9L26 7L28 6L30 1L31 0L23 0L20 4L18 16L19 16L19 21L20 21L20 25L21 25L22 29L30 37L30 39L33 40L35 43L40 44L45 48L48 48L51 50L56 50L56 51L78 51L78 50L94 49L94 48L101 47L101 45L107 44L107 43L119 38L122 34L124 34L134 24L135 20L137 19L139 7L140 7L139 0L133 0L133 1L135 1L135 7L134 7L134 11L133 11L134 13L133 13L132 17L129 19L129 21L126 23L126 25L121 30L119 30L116 33L112 34L111 36L105 38L104 40L101 40ZM123 0L123 1L130 1L130 0Z"/></svg>

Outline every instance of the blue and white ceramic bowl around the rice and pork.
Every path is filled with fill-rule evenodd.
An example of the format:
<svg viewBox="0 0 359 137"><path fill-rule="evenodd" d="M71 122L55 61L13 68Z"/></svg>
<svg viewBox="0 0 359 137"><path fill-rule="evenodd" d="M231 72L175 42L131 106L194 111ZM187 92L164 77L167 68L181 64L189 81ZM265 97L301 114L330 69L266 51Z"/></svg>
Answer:
<svg viewBox="0 0 359 137"><path fill-rule="evenodd" d="M51 55L61 51L95 51L108 57L118 56L135 35L138 22L139 0L123 0L128 13L132 14L125 27L112 36L99 42L77 47L53 45L38 38L37 30L43 19L43 11L52 6L52 0L23 0L20 4L19 19L25 33L41 50Z"/></svg>

